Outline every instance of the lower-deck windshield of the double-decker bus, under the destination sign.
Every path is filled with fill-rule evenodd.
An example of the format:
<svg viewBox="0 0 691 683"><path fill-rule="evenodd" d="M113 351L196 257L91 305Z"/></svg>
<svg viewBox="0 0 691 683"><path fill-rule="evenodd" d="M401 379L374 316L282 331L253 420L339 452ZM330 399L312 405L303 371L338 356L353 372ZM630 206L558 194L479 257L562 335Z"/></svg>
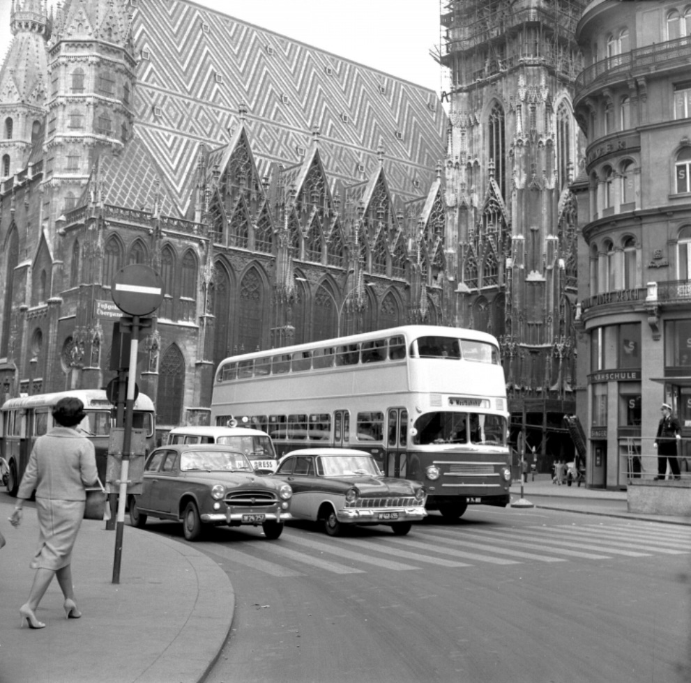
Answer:
<svg viewBox="0 0 691 683"><path fill-rule="evenodd" d="M425 413L415 422L413 443L506 445L506 418L484 413Z"/></svg>

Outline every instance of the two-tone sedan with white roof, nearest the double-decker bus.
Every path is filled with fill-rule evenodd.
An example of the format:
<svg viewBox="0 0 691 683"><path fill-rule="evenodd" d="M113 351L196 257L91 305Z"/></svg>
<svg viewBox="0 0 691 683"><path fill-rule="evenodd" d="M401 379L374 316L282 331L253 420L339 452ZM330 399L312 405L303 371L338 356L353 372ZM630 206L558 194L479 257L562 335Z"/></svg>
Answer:
<svg viewBox="0 0 691 683"><path fill-rule="evenodd" d="M349 524L386 524L398 536L426 516L420 482L384 477L377 461L349 448L308 448L284 455L275 475L293 489L293 519L324 525L338 536Z"/></svg>

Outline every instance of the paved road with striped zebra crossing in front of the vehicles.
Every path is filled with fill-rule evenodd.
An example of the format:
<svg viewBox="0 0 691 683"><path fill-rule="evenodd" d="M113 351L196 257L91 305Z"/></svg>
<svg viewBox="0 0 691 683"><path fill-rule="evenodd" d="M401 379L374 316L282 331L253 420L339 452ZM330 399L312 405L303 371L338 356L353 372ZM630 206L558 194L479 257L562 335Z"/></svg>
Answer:
<svg viewBox="0 0 691 683"><path fill-rule="evenodd" d="M688 527L476 508L407 537L293 524L195 546L236 592L206 683L691 680Z"/></svg>

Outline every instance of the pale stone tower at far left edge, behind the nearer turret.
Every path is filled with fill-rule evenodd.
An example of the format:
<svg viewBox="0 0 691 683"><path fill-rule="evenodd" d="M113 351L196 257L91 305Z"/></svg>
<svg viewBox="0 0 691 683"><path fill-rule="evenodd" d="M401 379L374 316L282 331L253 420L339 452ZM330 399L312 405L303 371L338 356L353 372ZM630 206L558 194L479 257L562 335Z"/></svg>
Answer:
<svg viewBox="0 0 691 683"><path fill-rule="evenodd" d="M13 0L13 40L0 71L0 178L27 167L40 139L47 95L46 41L51 22L45 0Z"/></svg>

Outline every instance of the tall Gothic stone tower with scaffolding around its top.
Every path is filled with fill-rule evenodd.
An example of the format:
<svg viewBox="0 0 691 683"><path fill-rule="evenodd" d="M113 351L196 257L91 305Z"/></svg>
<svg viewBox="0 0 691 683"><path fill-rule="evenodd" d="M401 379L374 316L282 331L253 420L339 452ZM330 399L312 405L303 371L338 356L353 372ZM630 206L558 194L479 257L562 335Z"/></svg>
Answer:
<svg viewBox="0 0 691 683"><path fill-rule="evenodd" d="M457 322L501 342L518 449L565 458L573 454L560 437L563 415L575 408L577 296L568 186L580 154L571 102L585 4L452 0L441 16L440 61L452 84L446 199Z"/></svg>

